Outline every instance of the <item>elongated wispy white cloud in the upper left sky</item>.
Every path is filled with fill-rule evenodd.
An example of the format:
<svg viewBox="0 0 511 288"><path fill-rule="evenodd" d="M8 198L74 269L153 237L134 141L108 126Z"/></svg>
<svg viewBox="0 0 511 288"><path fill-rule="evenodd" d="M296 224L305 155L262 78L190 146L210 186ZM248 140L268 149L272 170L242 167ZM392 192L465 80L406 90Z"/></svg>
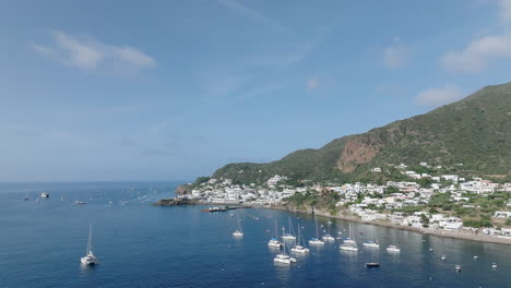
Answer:
<svg viewBox="0 0 511 288"><path fill-rule="evenodd" d="M73 36L61 31L50 34L52 43L33 44L34 50L84 71L132 74L156 65L152 57L130 46L107 45L90 36Z"/></svg>

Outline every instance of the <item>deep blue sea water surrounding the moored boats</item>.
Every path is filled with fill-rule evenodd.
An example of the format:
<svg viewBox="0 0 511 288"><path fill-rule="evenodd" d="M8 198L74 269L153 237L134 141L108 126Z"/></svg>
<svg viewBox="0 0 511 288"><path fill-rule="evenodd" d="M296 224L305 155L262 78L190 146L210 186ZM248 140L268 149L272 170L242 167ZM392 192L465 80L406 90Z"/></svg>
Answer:
<svg viewBox="0 0 511 288"><path fill-rule="evenodd" d="M176 183L0 184L0 287L511 287L511 247L423 236L353 224L359 252L341 252L338 241L311 247L296 265L274 264L268 248L274 230L314 219L280 211L201 213L201 207L154 207ZM40 192L50 197L35 202ZM64 194L67 201L60 201ZM29 201L23 201L28 195ZM75 205L85 201L86 205ZM111 202L109 204L109 202ZM235 239L236 218L245 236ZM260 219L254 219L259 217ZM328 219L318 217L326 227ZM332 235L348 223L332 220ZM100 265L82 268L88 224ZM361 241L376 232L382 248ZM364 235L361 235L364 233ZM401 254L383 245L395 233ZM425 240L425 241L423 241ZM428 252L429 248L435 252ZM440 256L447 254L447 261ZM473 255L478 255L477 261ZM379 262L380 268L366 268ZM498 263L492 269L491 263ZM454 271L461 264L462 273Z"/></svg>

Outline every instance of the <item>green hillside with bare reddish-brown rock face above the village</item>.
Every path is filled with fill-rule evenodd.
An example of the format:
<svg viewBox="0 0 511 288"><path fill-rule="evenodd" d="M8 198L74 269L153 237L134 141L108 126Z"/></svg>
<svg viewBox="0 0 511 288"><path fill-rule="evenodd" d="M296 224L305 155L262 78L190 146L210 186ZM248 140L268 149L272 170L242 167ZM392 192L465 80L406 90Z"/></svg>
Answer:
<svg viewBox="0 0 511 288"><path fill-rule="evenodd" d="M212 177L243 183L260 183L275 173L344 181L372 177L372 167L420 161L468 176L510 179L511 83L487 86L457 103L333 140L319 149L296 151L268 164L229 164Z"/></svg>

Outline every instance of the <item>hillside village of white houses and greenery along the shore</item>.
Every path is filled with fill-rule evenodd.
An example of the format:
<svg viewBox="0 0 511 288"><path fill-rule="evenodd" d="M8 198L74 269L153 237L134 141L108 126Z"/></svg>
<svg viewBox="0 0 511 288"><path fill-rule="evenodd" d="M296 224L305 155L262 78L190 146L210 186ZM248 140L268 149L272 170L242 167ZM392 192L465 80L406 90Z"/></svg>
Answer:
<svg viewBox="0 0 511 288"><path fill-rule="evenodd" d="M420 163L420 166L428 164ZM275 175L263 184L242 184L230 179L203 177L188 184L188 193L179 196L216 205L320 206L318 208L329 209L332 216L350 215L364 221L471 230L511 238L511 183L496 183L478 177L419 173L408 170L404 164L394 168L408 181L296 184L285 176ZM375 167L371 173L384 170ZM324 195L326 203L318 201Z"/></svg>

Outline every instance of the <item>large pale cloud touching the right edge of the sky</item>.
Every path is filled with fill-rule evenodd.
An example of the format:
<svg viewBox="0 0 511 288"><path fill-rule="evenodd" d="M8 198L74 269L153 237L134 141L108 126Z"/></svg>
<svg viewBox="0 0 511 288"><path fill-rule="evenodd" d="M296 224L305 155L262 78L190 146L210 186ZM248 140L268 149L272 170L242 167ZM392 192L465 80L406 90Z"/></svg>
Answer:
<svg viewBox="0 0 511 288"><path fill-rule="evenodd" d="M477 73L494 61L511 59L511 0L499 0L498 8L506 33L478 37L463 49L445 52L440 63L447 71Z"/></svg>

